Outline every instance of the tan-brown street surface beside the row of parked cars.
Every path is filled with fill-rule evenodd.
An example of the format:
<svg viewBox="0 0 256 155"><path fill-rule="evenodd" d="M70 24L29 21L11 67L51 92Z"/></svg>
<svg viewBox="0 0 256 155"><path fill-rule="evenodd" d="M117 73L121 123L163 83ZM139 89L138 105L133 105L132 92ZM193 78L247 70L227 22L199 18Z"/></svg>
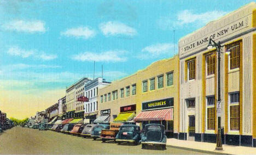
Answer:
<svg viewBox="0 0 256 155"><path fill-rule="evenodd" d="M141 145L102 143L53 131L14 127L0 133L0 154L203 154L167 147L142 150Z"/></svg>

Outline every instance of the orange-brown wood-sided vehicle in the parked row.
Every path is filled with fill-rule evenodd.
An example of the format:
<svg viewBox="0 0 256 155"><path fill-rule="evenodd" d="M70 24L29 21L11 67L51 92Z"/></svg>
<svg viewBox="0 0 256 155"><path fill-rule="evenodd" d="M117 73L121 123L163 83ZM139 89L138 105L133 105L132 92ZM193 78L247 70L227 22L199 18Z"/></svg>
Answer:
<svg viewBox="0 0 256 155"><path fill-rule="evenodd" d="M107 140L115 141L115 137L117 136L121 125L123 125L123 123L110 123L109 129L102 129L100 137L102 142L105 142Z"/></svg>

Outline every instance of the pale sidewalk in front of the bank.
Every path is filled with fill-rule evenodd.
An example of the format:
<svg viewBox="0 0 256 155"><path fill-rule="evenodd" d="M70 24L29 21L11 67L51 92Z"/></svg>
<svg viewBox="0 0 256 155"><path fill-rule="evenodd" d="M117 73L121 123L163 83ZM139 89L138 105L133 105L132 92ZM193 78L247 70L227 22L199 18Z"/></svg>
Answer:
<svg viewBox="0 0 256 155"><path fill-rule="evenodd" d="M245 146L233 146L233 145L222 145L223 151L216 151L216 144L210 142L197 142L190 140L178 140L174 138L167 139L167 147L178 147L188 150L194 150L205 153L214 154L256 154L255 147L245 147Z"/></svg>

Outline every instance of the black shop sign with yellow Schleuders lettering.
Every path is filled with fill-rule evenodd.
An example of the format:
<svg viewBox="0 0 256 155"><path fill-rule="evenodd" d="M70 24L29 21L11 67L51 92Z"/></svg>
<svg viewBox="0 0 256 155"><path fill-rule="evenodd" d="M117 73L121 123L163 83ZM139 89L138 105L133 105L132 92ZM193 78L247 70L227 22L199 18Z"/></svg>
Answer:
<svg viewBox="0 0 256 155"><path fill-rule="evenodd" d="M142 110L167 108L173 106L173 98L167 98L164 100L156 100L142 103Z"/></svg>

